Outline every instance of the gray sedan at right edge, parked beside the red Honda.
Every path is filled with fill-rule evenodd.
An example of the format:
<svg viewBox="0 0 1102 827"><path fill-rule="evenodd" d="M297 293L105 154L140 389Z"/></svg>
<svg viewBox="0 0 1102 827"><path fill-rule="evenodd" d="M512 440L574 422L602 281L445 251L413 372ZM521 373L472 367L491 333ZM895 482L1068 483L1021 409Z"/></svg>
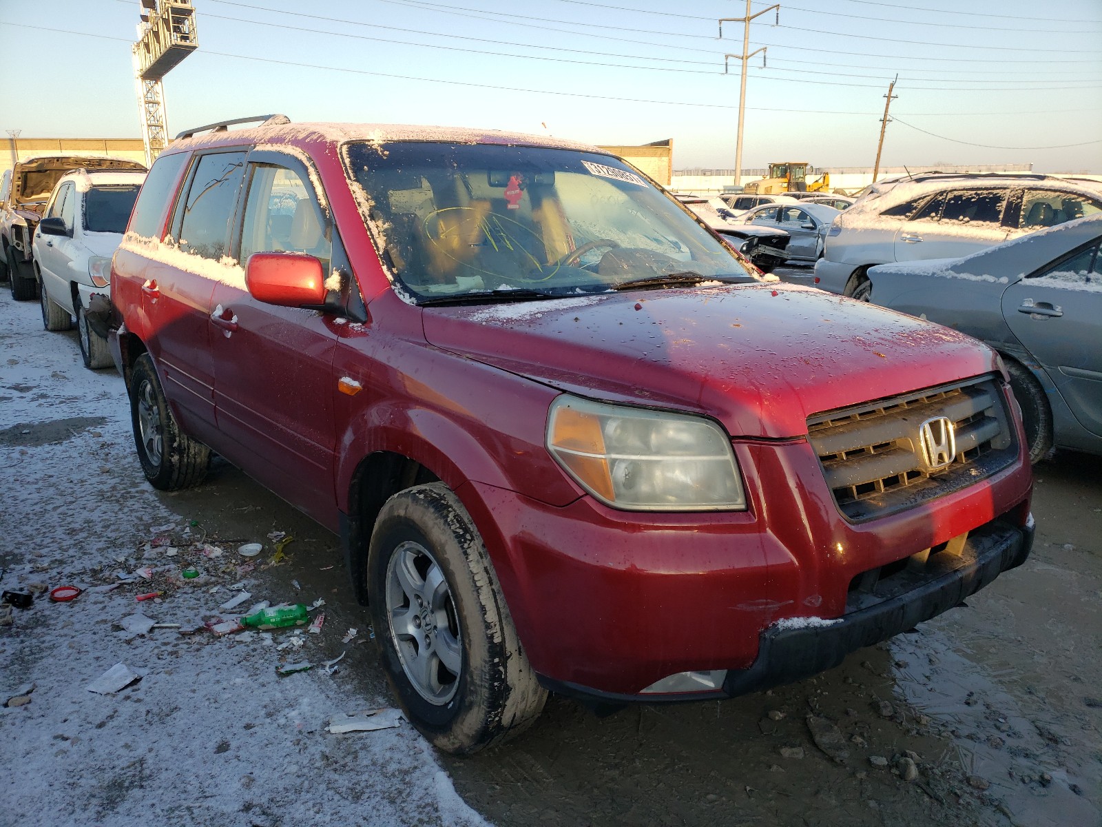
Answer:
<svg viewBox="0 0 1102 827"><path fill-rule="evenodd" d="M1030 459L1102 454L1102 215L964 258L880 265L872 301L997 350L1022 406Z"/></svg>

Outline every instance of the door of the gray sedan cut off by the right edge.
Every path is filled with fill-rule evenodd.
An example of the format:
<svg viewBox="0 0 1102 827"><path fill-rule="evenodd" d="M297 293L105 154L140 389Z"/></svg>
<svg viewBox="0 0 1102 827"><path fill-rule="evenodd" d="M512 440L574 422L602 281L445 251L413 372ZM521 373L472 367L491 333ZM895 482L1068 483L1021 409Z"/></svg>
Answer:
<svg viewBox="0 0 1102 827"><path fill-rule="evenodd" d="M1011 284L1003 316L1056 384L1079 423L1102 436L1100 241Z"/></svg>

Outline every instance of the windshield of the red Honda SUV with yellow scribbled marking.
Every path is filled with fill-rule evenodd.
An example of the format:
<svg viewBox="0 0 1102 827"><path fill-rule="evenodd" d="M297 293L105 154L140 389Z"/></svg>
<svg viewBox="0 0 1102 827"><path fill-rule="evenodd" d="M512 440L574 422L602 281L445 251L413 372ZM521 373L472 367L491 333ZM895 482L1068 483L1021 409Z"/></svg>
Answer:
<svg viewBox="0 0 1102 827"><path fill-rule="evenodd" d="M353 143L385 254L418 300L756 277L618 159L562 149ZM521 296L525 291L527 296Z"/></svg>

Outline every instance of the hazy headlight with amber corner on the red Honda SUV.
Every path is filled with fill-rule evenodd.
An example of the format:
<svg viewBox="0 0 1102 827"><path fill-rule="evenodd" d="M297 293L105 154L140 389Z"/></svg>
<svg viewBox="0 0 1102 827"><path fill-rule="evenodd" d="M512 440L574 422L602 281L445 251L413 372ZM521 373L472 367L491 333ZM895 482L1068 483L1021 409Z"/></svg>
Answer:
<svg viewBox="0 0 1102 827"><path fill-rule="evenodd" d="M731 440L703 417L563 395L551 404L548 450L579 485L615 508L746 508Z"/></svg>

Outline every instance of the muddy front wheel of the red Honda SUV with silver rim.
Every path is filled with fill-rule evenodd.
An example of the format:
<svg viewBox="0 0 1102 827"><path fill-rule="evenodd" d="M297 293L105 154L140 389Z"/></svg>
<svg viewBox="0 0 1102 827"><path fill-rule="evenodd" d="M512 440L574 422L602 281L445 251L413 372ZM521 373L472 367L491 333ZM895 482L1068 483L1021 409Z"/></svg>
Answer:
<svg viewBox="0 0 1102 827"><path fill-rule="evenodd" d="M437 749L471 754L543 709L486 548L443 483L402 491L368 551L376 642L406 717Z"/></svg>

